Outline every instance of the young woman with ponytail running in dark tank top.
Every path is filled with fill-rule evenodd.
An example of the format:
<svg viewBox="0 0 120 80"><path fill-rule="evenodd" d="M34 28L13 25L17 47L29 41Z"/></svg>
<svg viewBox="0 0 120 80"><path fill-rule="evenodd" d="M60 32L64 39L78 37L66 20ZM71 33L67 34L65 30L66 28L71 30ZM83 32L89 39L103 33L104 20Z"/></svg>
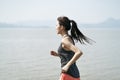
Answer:
<svg viewBox="0 0 120 80"><path fill-rule="evenodd" d="M85 42L89 43L90 39L80 32L74 20L70 20L66 16L57 18L56 29L57 34L62 36L62 40L58 52L51 51L50 53L61 59L62 69L60 80L80 80L76 61L83 53L75 46L75 40L79 41L81 44L85 44ZM70 31L71 34L68 34L68 31Z"/></svg>

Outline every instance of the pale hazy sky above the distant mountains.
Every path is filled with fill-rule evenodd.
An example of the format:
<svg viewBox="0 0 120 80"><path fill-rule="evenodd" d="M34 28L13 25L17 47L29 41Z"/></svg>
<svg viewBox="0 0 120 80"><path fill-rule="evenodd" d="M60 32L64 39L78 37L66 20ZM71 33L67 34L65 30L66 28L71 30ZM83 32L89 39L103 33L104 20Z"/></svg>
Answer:
<svg viewBox="0 0 120 80"><path fill-rule="evenodd" d="M81 23L120 19L120 0L0 0L0 22L56 20L61 15Z"/></svg>

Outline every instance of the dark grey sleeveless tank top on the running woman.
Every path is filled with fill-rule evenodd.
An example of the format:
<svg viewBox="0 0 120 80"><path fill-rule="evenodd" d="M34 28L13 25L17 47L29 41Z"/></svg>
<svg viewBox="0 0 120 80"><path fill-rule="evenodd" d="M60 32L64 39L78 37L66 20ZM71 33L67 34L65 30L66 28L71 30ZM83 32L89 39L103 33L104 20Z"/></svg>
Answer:
<svg viewBox="0 0 120 80"><path fill-rule="evenodd" d="M73 51L67 51L64 48L62 48L62 43L60 44L59 48L58 48L58 54L60 56L61 59L61 67L65 66L68 61L71 60L71 58L74 56L74 52ZM68 69L68 71L66 72L66 74L69 74L72 77L75 78L79 78L79 70L76 66L76 63L73 63L70 68Z"/></svg>

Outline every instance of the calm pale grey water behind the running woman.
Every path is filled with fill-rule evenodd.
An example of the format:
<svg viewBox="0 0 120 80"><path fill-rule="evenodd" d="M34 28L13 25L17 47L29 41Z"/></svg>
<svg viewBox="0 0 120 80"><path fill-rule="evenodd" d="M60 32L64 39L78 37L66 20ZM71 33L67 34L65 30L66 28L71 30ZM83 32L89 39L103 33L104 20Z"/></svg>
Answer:
<svg viewBox="0 0 120 80"><path fill-rule="evenodd" d="M120 29L82 29L92 45L76 46L81 80L120 80ZM0 80L58 80L61 36L53 28L1 28Z"/></svg>

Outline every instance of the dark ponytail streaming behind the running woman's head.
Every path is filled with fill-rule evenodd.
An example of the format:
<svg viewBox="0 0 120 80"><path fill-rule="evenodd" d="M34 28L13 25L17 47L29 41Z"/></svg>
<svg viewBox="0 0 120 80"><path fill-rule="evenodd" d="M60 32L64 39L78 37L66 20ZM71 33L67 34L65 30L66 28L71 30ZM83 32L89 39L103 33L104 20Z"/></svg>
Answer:
<svg viewBox="0 0 120 80"><path fill-rule="evenodd" d="M85 42L91 44L90 43L91 39L83 35L83 33L78 29L76 22L74 20L70 20L70 22L71 22L71 37L74 40L79 41L81 44L85 44Z"/></svg>

